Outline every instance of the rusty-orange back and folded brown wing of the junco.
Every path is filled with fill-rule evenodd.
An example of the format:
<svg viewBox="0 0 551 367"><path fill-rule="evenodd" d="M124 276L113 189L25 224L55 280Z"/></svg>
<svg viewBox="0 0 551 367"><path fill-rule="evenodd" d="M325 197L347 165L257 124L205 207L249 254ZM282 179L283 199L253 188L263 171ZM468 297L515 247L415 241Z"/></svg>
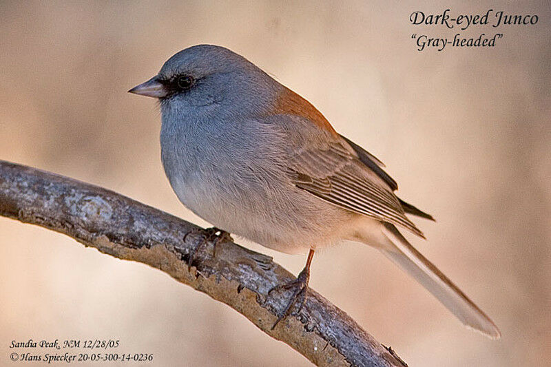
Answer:
<svg viewBox="0 0 551 367"><path fill-rule="evenodd" d="M293 183L335 205L398 224L424 237L404 213L393 191L393 180L381 168L382 162L340 136L329 121L304 98L282 87L271 110L260 123L270 125L283 136L290 151L286 162ZM422 211L414 211L419 215ZM425 218L428 214L423 213Z"/></svg>

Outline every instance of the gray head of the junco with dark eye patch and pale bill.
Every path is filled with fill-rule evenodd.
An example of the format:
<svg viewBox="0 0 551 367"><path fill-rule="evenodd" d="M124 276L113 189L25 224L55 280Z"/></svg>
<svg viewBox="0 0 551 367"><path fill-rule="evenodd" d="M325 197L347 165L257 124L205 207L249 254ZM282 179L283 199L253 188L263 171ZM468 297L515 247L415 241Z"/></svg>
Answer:
<svg viewBox="0 0 551 367"><path fill-rule="evenodd" d="M256 65L227 48L196 45L174 54L156 76L128 92L159 98L161 107L175 107L175 103L198 107L235 105L236 98L241 103L260 103L277 85Z"/></svg>

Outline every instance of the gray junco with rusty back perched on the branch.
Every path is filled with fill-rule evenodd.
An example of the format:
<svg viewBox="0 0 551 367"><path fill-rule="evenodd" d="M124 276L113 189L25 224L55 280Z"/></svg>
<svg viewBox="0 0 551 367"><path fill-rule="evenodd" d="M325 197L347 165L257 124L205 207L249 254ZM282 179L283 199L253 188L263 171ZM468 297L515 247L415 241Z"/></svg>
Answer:
<svg viewBox="0 0 551 367"><path fill-rule="evenodd" d="M304 304L315 251L351 240L380 250L469 328L501 336L399 231L425 238L408 215L433 217L397 197L397 183L378 158L244 56L194 45L128 92L157 98L165 174L213 233L308 253L298 277L275 287L293 293L273 327L293 304Z"/></svg>

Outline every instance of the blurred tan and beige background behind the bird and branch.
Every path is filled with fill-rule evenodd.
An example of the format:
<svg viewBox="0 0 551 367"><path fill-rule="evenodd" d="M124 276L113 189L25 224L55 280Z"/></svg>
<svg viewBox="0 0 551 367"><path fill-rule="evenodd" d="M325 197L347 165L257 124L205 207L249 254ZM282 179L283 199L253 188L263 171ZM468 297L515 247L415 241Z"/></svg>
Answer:
<svg viewBox="0 0 551 367"><path fill-rule="evenodd" d="M537 14L494 48L418 52L415 10ZM224 45L306 97L432 213L415 246L501 328L472 333L380 253L318 253L311 287L410 366L551 361L551 44L547 1L0 2L0 159L101 185L207 226L160 164L159 113L126 91L175 52ZM240 241L244 243L243 241ZM247 244L247 243L245 243ZM256 244L294 273L305 256ZM120 339L147 366L309 366L158 270L0 218L0 364L12 340Z"/></svg>

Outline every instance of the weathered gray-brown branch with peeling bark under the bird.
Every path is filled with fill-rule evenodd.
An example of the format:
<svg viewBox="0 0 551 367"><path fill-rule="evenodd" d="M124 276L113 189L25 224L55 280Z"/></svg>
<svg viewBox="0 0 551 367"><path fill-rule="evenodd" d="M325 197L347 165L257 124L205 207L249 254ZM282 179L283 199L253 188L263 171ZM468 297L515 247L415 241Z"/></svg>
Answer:
<svg viewBox="0 0 551 367"><path fill-rule="evenodd" d="M160 269L229 305L317 366L406 366L392 348L311 289L300 313L271 330L291 294L268 291L293 280L289 271L266 255L222 242L216 257L212 244L202 247L189 272L201 229L113 191L0 160L0 215Z"/></svg>

